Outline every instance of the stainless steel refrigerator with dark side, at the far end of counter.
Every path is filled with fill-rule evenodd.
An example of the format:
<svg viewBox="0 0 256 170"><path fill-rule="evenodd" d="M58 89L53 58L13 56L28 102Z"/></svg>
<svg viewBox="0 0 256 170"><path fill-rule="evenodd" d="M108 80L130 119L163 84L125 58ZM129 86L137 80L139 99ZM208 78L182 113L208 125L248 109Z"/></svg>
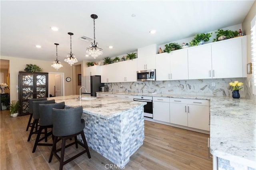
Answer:
<svg viewBox="0 0 256 170"><path fill-rule="evenodd" d="M86 96L95 96L96 91L100 91L100 86L104 85L104 83L100 83L100 75L91 75L81 77L82 86L84 86L87 90L87 93L82 89L82 95Z"/></svg>

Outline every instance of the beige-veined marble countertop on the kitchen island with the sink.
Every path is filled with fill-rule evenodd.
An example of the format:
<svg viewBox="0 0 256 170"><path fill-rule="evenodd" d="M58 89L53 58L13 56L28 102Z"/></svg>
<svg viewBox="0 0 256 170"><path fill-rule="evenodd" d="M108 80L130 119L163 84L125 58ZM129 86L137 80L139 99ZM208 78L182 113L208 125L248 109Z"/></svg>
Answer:
<svg viewBox="0 0 256 170"><path fill-rule="evenodd" d="M90 97L82 96L87 100L75 99L78 95L51 97L48 99L55 99L55 102L59 103L64 101L65 105L70 107L82 106L84 113L102 117L104 119L111 119L118 116L125 111L132 110L134 108L145 105L146 102L132 101L130 99L115 99L111 100L103 97Z"/></svg>

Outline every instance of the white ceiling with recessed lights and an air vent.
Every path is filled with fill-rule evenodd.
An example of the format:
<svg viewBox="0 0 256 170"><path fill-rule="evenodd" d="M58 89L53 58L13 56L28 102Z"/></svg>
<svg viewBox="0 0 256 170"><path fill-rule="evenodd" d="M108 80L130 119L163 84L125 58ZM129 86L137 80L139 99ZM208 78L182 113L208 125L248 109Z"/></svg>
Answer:
<svg viewBox="0 0 256 170"><path fill-rule="evenodd" d="M201 1L0 1L1 56L64 62L70 52L78 61L99 61L136 51L139 47L168 42L241 24L255 0ZM85 57L93 38L95 20L96 42L103 55ZM136 14L136 17L132 17ZM57 26L58 32L50 27ZM149 34L155 29L156 34ZM42 46L38 49L36 44ZM108 46L112 45L113 49Z"/></svg>

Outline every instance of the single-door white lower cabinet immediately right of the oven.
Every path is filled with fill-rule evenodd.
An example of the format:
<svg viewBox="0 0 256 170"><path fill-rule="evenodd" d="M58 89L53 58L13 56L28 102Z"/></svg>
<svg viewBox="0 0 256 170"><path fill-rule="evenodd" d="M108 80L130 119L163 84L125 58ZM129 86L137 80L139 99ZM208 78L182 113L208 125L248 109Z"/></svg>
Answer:
<svg viewBox="0 0 256 170"><path fill-rule="evenodd" d="M169 98L153 97L153 119L170 123Z"/></svg>

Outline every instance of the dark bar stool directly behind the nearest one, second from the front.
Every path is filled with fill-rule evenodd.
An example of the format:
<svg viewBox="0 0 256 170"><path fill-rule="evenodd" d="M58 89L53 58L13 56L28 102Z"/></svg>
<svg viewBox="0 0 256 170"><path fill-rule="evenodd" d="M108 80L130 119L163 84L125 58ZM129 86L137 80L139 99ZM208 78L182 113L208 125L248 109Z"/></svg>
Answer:
<svg viewBox="0 0 256 170"><path fill-rule="evenodd" d="M47 133L47 128L52 129L52 108L54 109L64 109L65 102L61 103L52 103L52 104L39 104L38 106L38 113L39 113L39 130L36 136L36 141L34 144L34 148L32 153L36 151L36 146L52 146L52 143L39 143L41 140L47 138L52 134L52 131ZM45 135L44 137L40 138L42 130L44 129Z"/></svg>

